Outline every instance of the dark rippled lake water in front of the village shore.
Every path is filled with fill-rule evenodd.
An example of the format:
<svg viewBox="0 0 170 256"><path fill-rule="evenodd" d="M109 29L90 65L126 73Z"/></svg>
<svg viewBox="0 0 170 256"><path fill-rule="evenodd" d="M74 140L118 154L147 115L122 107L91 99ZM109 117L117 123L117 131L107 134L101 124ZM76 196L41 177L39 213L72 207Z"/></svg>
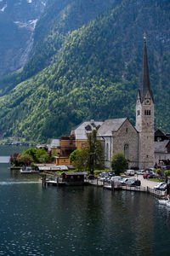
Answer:
<svg viewBox="0 0 170 256"><path fill-rule="evenodd" d="M155 197L42 189L38 177L8 167L0 164L0 255L169 255L170 212Z"/></svg>

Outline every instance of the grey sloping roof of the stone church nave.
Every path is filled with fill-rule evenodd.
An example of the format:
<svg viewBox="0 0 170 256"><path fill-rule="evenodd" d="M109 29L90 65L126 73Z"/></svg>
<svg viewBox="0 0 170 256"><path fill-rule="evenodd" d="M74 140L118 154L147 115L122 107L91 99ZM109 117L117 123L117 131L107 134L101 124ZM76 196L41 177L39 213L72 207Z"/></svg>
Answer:
<svg viewBox="0 0 170 256"><path fill-rule="evenodd" d="M111 136L112 131L118 131L126 119L127 118L105 120L98 130L98 136Z"/></svg>

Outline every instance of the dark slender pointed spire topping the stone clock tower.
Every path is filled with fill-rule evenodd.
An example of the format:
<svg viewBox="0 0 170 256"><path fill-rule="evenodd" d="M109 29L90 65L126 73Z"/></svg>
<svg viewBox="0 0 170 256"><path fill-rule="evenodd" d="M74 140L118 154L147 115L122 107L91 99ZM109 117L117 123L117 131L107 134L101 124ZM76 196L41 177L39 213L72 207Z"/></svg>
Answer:
<svg viewBox="0 0 170 256"><path fill-rule="evenodd" d="M150 90L150 73L148 67L148 57L147 57L147 48L146 48L146 36L144 33L144 55L143 55L143 67L142 67L142 76L141 76L141 83L139 89L139 95L141 102L144 101L144 97L146 96L147 92L150 92L150 97L154 102L152 91Z"/></svg>

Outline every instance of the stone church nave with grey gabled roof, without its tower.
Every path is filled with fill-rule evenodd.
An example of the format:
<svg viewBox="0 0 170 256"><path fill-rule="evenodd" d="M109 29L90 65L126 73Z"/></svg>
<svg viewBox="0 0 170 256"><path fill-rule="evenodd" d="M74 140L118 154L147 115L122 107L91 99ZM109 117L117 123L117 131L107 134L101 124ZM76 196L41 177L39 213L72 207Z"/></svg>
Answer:
<svg viewBox="0 0 170 256"><path fill-rule="evenodd" d="M104 141L105 167L111 167L111 157L121 151L129 167L137 167L139 160L138 131L127 119L108 119L99 128L98 137Z"/></svg>

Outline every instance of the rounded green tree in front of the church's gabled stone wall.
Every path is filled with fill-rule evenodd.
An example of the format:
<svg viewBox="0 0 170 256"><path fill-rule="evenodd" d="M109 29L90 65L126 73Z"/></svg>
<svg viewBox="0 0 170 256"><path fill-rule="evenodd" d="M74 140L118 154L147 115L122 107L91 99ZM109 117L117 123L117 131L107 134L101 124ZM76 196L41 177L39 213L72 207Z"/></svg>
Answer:
<svg viewBox="0 0 170 256"><path fill-rule="evenodd" d="M117 151L113 154L111 159L111 168L115 172L115 175L120 175L128 168L128 161L122 152Z"/></svg>

